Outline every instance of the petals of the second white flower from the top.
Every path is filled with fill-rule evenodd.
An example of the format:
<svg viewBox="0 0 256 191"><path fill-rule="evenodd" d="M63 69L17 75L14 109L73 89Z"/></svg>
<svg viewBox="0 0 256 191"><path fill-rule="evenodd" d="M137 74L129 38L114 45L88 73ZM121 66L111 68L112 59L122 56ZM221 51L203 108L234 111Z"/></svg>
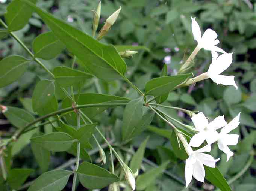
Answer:
<svg viewBox="0 0 256 191"><path fill-rule="evenodd" d="M232 63L232 54L225 53L218 56L217 52L212 51L212 64L210 64L207 74L216 84L233 85L237 89L235 76L220 75Z"/></svg>

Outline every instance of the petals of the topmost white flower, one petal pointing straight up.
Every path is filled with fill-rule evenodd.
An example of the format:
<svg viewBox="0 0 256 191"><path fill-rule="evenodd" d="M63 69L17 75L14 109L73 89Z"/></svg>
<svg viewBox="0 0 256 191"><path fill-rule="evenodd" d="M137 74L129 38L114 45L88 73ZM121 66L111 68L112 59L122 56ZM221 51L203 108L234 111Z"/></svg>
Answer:
<svg viewBox="0 0 256 191"><path fill-rule="evenodd" d="M195 21L195 18L192 18L192 33L194 36L194 39L197 41L199 48L204 48L205 50L208 51L216 51L216 52L222 52L225 53L225 51L223 51L223 49L215 46L217 45L220 41L217 39L218 34L213 31L212 29L207 29L203 36L201 36L201 29L197 23L197 21Z"/></svg>

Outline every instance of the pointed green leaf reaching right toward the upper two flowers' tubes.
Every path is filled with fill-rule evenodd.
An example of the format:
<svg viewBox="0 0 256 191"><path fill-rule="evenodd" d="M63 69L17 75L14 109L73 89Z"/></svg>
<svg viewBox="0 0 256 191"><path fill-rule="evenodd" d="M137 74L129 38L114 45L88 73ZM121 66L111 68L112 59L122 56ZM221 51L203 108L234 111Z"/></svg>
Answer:
<svg viewBox="0 0 256 191"><path fill-rule="evenodd" d="M176 76L164 76L151 79L147 82L145 91L147 95L161 96L173 90L177 85L186 81L191 74L182 74Z"/></svg>

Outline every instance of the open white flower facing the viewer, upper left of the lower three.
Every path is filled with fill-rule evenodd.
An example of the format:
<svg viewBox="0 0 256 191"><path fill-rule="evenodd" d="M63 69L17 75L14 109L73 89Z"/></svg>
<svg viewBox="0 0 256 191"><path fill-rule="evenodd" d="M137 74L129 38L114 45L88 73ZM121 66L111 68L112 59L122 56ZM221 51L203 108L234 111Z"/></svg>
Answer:
<svg viewBox="0 0 256 191"><path fill-rule="evenodd" d="M214 143L219 137L216 130L227 125L224 116L218 116L212 122L208 123L208 120L202 112L194 115L191 119L195 125L195 129L199 131L189 142L189 145L194 147L200 146L204 140L206 140L208 144Z"/></svg>

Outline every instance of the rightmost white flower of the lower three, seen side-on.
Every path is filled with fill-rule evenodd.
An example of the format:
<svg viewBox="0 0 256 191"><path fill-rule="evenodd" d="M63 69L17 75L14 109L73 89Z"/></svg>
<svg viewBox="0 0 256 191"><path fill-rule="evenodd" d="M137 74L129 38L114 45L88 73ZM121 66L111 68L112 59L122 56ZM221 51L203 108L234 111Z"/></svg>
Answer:
<svg viewBox="0 0 256 191"><path fill-rule="evenodd" d="M219 139L218 139L218 147L221 151L227 154L227 161L230 157L233 156L233 152L230 151L229 147L227 145L236 145L238 143L238 137L237 134L228 134L230 131L238 127L240 119L240 113L227 124L225 127L223 127L220 130Z"/></svg>

